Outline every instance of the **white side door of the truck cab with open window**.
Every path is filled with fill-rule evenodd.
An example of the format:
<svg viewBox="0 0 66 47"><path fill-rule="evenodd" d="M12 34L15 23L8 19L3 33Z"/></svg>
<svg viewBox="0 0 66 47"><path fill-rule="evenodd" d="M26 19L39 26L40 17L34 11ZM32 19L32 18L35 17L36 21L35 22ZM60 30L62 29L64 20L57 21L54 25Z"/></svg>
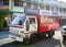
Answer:
<svg viewBox="0 0 66 47"><path fill-rule="evenodd" d="M37 32L36 17L29 17L26 20L26 31L29 31L29 32Z"/></svg>

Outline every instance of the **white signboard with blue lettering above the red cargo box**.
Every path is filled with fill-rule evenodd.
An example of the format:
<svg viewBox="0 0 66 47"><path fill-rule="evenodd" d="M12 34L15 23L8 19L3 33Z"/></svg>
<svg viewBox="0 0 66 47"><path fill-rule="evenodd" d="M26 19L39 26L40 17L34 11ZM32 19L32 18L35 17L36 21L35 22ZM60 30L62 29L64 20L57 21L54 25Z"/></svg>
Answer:
<svg viewBox="0 0 66 47"><path fill-rule="evenodd" d="M57 11L47 11L47 10L40 10L41 15L52 15L52 16L59 16L59 12Z"/></svg>

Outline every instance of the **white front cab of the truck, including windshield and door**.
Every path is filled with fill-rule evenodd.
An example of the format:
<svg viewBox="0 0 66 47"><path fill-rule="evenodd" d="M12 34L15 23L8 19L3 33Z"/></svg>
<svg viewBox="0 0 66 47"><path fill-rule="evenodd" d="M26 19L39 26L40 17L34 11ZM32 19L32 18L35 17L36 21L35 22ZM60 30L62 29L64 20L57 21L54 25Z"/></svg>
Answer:
<svg viewBox="0 0 66 47"><path fill-rule="evenodd" d="M9 36L18 42L30 38L32 33L37 33L36 16L16 16L12 21L9 32Z"/></svg>

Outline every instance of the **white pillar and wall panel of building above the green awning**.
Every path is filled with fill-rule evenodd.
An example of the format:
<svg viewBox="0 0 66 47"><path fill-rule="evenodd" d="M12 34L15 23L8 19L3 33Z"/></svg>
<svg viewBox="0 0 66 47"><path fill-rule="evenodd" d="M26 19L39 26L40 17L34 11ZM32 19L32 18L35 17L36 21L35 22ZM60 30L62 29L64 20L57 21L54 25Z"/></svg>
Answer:
<svg viewBox="0 0 66 47"><path fill-rule="evenodd" d="M23 7L14 7L14 0L9 0L9 9L14 12L24 12Z"/></svg>

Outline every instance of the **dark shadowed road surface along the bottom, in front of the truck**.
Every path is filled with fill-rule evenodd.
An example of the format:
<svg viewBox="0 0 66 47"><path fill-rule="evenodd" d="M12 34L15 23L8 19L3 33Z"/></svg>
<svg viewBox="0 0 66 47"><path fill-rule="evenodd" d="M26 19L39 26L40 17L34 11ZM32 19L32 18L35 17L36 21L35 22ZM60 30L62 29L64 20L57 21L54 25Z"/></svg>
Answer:
<svg viewBox="0 0 66 47"><path fill-rule="evenodd" d="M1 45L0 47L62 47L61 40L55 38L44 38L37 40L34 44L25 45L19 42L12 42L9 44Z"/></svg>

